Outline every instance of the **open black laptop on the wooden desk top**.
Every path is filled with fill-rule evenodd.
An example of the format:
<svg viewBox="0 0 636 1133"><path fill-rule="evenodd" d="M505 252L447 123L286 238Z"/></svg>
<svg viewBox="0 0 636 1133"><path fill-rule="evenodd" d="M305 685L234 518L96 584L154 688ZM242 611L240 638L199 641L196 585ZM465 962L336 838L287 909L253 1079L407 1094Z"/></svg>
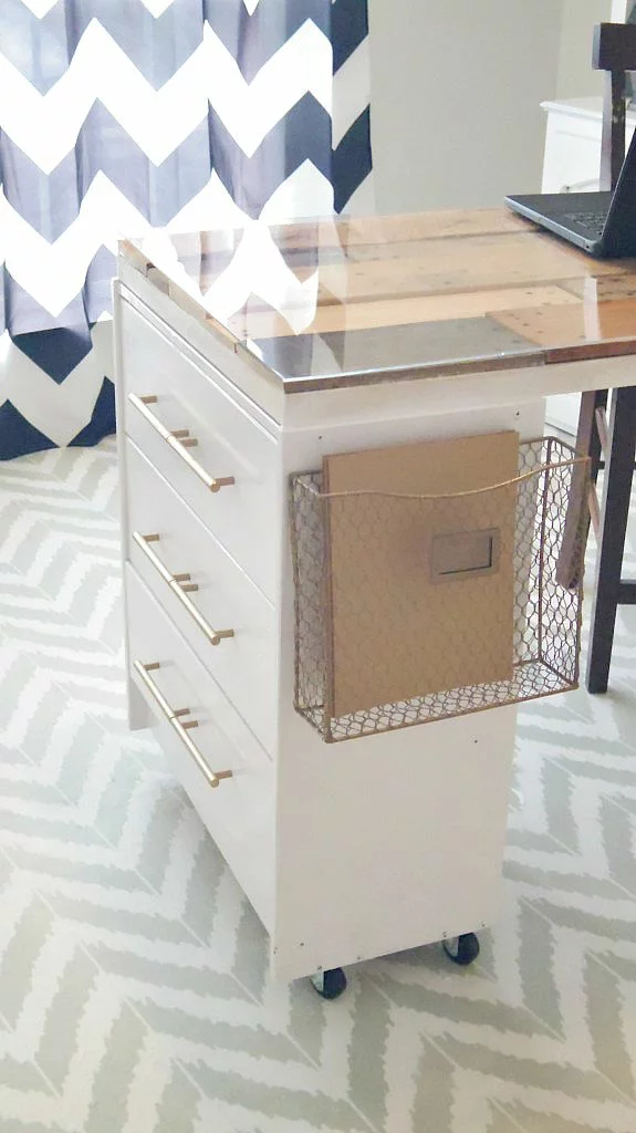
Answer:
<svg viewBox="0 0 636 1133"><path fill-rule="evenodd" d="M613 193L535 193L506 204L593 256L636 256L636 131Z"/></svg>

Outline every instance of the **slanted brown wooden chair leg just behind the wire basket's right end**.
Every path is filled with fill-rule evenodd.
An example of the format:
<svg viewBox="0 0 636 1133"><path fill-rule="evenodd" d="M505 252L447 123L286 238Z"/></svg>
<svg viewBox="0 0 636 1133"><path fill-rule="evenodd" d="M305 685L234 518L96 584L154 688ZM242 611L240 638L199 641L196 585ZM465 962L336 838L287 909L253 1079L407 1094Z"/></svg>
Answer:
<svg viewBox="0 0 636 1133"><path fill-rule="evenodd" d="M605 408L607 390L591 390L581 395L581 410L576 432L577 457L590 457L590 474L592 483L596 483L601 462L601 441L596 426L596 409ZM587 474L575 468L564 528L564 542L557 563L557 582L568 590L575 590L581 583L583 560L587 533L590 529L590 509L587 505Z"/></svg>

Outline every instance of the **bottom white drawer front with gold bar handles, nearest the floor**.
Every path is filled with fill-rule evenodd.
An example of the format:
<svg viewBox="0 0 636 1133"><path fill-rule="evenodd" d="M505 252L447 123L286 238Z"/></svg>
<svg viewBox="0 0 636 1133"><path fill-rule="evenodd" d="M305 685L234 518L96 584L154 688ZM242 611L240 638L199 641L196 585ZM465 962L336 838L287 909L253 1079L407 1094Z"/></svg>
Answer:
<svg viewBox="0 0 636 1133"><path fill-rule="evenodd" d="M161 606L127 566L131 678L143 693L171 768L266 927L274 900L274 764L206 673ZM158 668L152 667L158 663ZM144 668L144 675L136 666ZM179 731L174 723L196 727ZM189 744L194 744L194 751ZM218 786L209 772L232 772Z"/></svg>

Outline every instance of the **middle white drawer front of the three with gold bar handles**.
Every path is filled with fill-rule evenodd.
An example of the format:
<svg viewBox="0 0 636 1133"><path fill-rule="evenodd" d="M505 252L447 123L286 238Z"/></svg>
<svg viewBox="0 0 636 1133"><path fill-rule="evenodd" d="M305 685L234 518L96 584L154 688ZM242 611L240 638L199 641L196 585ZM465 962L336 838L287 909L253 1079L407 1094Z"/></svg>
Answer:
<svg viewBox="0 0 636 1133"><path fill-rule="evenodd" d="M128 557L260 742L273 751L274 607L130 440L126 467Z"/></svg>

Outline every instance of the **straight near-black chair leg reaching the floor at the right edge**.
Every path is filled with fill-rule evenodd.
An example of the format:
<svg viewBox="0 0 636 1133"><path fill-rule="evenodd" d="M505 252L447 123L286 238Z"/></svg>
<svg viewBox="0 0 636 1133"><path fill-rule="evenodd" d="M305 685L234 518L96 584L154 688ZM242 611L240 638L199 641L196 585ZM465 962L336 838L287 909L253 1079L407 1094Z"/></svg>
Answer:
<svg viewBox="0 0 636 1133"><path fill-rule="evenodd" d="M636 386L613 391L609 433L587 653L588 692L608 690L636 452Z"/></svg>

